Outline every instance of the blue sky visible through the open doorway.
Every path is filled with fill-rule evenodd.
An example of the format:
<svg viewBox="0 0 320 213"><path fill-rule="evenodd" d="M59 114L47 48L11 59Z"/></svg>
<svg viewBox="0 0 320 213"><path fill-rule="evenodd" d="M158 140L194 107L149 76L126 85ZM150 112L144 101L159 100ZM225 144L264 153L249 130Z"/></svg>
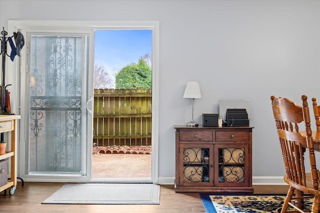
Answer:
<svg viewBox="0 0 320 213"><path fill-rule="evenodd" d="M152 30L95 30L94 64L109 73L137 63L145 53L152 55Z"/></svg>

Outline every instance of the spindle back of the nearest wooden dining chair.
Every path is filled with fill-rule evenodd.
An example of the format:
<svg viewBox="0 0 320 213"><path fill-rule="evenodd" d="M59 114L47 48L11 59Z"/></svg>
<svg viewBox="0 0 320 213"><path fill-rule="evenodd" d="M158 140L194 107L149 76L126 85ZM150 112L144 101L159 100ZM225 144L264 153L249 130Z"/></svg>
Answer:
<svg viewBox="0 0 320 213"><path fill-rule="evenodd" d="M288 180L292 184L306 187L303 153L305 152L304 147L307 147L313 188L318 189L307 97L302 95L301 99L302 107L287 98L271 96L272 110ZM304 122L306 135L299 131L298 124L302 122Z"/></svg>

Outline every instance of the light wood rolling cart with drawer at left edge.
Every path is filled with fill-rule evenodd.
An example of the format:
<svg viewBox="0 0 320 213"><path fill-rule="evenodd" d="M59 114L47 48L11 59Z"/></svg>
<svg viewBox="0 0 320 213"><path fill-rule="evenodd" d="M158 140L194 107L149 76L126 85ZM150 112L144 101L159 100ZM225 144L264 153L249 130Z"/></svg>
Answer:
<svg viewBox="0 0 320 213"><path fill-rule="evenodd" d="M0 155L0 160L11 158L11 174L10 181L5 185L0 186L0 192L10 188L9 194L13 195L16 188L16 163L17 163L17 143L16 143L16 127L19 115L0 115L0 133L11 132L11 141L8 142L10 150L5 154ZM7 145L8 146L8 145Z"/></svg>

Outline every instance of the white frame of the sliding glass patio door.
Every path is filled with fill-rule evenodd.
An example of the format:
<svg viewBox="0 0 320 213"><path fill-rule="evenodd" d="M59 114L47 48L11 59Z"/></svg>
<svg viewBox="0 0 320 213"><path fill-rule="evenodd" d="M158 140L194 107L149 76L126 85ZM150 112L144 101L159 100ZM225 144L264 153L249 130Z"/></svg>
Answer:
<svg viewBox="0 0 320 213"><path fill-rule="evenodd" d="M158 184L158 121L159 121L159 21L42 21L42 20L8 20L8 31L15 32L17 30L22 33L25 30L55 30L61 31L63 30L73 30L74 32L88 32L90 31L89 37L89 68L88 71L93 71L93 63L94 63L94 30L97 29L151 29L152 30L152 138L151 138L151 180L149 180L153 184ZM93 32L93 33L92 33ZM90 48L90 47L93 48ZM25 103L23 94L20 93L22 88L25 88L25 82L20 82L21 79L25 79L25 72L27 70L26 65L26 50L22 48L21 57L19 60L15 60L12 63L8 63L6 61L6 67L8 67L7 78L6 81L10 82L13 86L11 87L11 108L12 112L15 114L21 115L21 120L19 122L19 132L18 141L18 176L24 174L24 142L25 142L25 131L28 130L24 109L21 108L20 103ZM21 63L25 61L24 63ZM25 71L22 71L25 70ZM91 76L92 77L92 76ZM90 97L93 98L93 86L92 79L88 79L88 88L91 91L87 91L86 96L87 100ZM93 101L88 102L87 110L92 110ZM90 112L88 112L89 114ZM86 119L88 127L92 127L93 115L91 119ZM92 141L92 128L87 131L87 140ZM25 178L25 181L37 181L37 182L93 182L91 180L91 168L92 168L92 143L87 143L87 175L85 177L56 177L54 179L43 179L42 177L38 178ZM89 160L91 159L91 160ZM120 183L136 183L138 180L135 179L116 179L117 182ZM94 182L114 182L114 180L101 180L97 181L94 179ZM148 180L144 180L144 182L148 182Z"/></svg>

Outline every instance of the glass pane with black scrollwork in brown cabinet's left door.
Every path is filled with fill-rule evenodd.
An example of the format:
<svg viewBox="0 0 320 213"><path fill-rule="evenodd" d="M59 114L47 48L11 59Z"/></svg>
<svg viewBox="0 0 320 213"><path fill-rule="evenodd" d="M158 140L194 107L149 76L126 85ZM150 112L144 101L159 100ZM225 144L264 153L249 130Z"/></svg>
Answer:
<svg viewBox="0 0 320 213"><path fill-rule="evenodd" d="M183 182L209 182L209 149L183 149Z"/></svg>

